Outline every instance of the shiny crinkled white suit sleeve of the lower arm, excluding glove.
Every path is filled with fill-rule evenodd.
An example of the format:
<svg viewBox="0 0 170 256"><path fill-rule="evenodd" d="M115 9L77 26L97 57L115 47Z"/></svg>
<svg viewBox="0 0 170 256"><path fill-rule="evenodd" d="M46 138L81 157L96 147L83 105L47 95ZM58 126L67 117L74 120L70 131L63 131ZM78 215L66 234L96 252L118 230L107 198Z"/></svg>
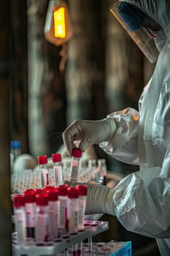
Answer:
<svg viewBox="0 0 170 256"><path fill-rule="evenodd" d="M126 230L153 238L169 237L170 182L161 172L161 167L151 167L132 173L110 193L113 214Z"/></svg>

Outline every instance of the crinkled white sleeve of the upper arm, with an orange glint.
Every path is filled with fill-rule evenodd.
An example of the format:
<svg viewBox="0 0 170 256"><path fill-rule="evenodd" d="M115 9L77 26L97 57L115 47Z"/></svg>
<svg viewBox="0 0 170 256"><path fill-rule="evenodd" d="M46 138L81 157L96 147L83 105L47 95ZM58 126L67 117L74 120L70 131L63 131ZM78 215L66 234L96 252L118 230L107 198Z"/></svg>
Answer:
<svg viewBox="0 0 170 256"><path fill-rule="evenodd" d="M100 143L99 146L111 157L131 165L139 165L138 124L139 112L125 108L109 114L116 123L116 132L112 140Z"/></svg>

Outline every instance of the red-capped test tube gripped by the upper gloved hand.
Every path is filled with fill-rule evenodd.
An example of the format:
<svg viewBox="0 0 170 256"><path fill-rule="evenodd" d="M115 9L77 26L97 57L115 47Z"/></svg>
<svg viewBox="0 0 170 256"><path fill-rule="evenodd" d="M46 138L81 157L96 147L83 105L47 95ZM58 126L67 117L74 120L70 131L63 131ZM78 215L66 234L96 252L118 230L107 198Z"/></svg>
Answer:
<svg viewBox="0 0 170 256"><path fill-rule="evenodd" d="M80 148L73 148L70 181L78 181L80 157L82 157L82 151L80 150Z"/></svg>

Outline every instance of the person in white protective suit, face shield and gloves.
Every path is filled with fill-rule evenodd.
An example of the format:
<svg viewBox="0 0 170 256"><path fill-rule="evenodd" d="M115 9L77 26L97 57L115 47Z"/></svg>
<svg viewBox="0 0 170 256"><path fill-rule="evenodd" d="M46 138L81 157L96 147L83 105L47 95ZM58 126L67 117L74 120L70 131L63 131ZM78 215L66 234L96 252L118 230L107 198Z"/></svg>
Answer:
<svg viewBox="0 0 170 256"><path fill-rule="evenodd" d="M126 230L156 238L170 255L170 1L115 1L113 15L155 70L139 98L139 111L126 108L96 121L76 120L63 132L71 156L98 144L121 162L139 165L114 188L88 185L86 214L117 217ZM73 184L74 186L74 184Z"/></svg>

